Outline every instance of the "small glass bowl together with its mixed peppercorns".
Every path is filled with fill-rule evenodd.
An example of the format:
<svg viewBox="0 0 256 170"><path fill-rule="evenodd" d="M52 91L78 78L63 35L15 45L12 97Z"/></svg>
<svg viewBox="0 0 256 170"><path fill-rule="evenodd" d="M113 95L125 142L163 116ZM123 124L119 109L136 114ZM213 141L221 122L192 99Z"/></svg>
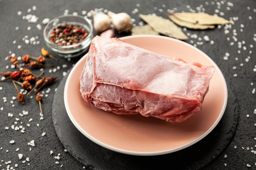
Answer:
<svg viewBox="0 0 256 170"><path fill-rule="evenodd" d="M65 58L84 53L89 48L92 38L91 21L82 16L56 17L44 29L46 45Z"/></svg>

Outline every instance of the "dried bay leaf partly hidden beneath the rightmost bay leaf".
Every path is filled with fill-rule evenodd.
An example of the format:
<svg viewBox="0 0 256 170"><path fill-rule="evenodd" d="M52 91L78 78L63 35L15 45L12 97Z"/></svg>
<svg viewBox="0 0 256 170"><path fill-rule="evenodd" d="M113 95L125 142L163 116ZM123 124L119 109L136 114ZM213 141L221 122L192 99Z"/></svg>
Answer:
<svg viewBox="0 0 256 170"><path fill-rule="evenodd" d="M168 14L168 17L177 25L179 26L184 26L184 27L187 27L187 28L190 28L190 29L201 29L201 30L204 30L204 29L213 29L215 28L215 26L213 25L201 25L201 24L198 24L198 23L191 23L191 22L187 22L187 21L183 21L177 17L175 17L173 14Z"/></svg>

